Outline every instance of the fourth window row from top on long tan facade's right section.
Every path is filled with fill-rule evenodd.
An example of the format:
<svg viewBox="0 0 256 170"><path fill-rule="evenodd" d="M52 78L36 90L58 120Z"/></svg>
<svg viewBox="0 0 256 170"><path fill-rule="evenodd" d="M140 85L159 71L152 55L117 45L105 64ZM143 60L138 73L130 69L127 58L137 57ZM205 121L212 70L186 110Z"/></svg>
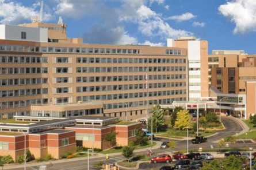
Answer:
<svg viewBox="0 0 256 170"><path fill-rule="evenodd" d="M150 75L148 80L169 80L169 79L185 79L186 74L163 74L163 75ZM96 76L96 77L77 77L77 82L110 82L110 81L141 81L144 76ZM66 79L65 79L66 81Z"/></svg>

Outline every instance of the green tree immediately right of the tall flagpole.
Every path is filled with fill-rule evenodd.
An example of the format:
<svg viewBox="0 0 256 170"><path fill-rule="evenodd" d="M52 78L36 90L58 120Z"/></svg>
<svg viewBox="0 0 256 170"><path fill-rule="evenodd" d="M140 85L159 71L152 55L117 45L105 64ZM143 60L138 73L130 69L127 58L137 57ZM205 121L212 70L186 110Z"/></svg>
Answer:
<svg viewBox="0 0 256 170"><path fill-rule="evenodd" d="M165 118L163 117L164 111L161 109L160 105L155 105L154 108L152 108L151 113L152 115L148 120L148 132L151 131L151 122L153 122L153 131L157 132L159 127L161 127L165 122Z"/></svg>

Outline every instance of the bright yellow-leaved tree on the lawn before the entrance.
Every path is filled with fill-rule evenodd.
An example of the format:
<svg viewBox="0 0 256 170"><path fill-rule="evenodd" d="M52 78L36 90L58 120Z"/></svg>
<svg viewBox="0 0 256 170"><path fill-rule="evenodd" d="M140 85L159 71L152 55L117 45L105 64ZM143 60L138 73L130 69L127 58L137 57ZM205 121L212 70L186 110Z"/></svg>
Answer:
<svg viewBox="0 0 256 170"><path fill-rule="evenodd" d="M188 110L180 110L177 113L177 119L174 124L174 128L185 130L187 128L192 129L193 124L191 122L192 116Z"/></svg>

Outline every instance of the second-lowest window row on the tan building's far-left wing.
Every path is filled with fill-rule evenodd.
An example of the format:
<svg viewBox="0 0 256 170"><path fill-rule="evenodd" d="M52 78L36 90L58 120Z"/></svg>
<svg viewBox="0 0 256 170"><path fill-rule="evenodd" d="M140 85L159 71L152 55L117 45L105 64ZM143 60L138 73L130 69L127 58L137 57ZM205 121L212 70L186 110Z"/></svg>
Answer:
<svg viewBox="0 0 256 170"><path fill-rule="evenodd" d="M0 91L0 97L32 96L37 94L48 94L48 89L21 89Z"/></svg>

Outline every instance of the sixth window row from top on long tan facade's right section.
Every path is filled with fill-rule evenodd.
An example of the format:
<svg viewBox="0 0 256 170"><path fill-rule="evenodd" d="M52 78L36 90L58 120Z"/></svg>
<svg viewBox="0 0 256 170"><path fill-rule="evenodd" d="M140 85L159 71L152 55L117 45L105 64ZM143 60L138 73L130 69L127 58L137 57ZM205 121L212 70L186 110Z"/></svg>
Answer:
<svg viewBox="0 0 256 170"><path fill-rule="evenodd" d="M148 97L156 96L169 96L169 95L179 95L186 94L186 90L167 90L158 92L148 92ZM120 94L108 94L108 95L97 95L97 96L78 96L77 101L90 101L90 100L117 100L123 98L137 98L137 97L147 97L146 92L141 93L120 93Z"/></svg>

